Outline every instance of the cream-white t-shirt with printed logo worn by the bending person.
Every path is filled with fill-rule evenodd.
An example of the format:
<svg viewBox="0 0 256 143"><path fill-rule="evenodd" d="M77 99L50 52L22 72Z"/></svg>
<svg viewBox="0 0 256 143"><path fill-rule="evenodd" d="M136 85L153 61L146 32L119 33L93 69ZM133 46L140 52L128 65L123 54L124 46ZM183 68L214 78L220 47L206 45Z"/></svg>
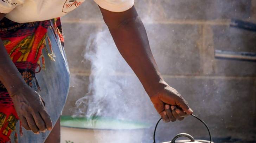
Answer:
<svg viewBox="0 0 256 143"><path fill-rule="evenodd" d="M85 0L0 0L0 13L14 22L34 22L64 16ZM111 12L123 12L134 5L134 0L94 0Z"/></svg>

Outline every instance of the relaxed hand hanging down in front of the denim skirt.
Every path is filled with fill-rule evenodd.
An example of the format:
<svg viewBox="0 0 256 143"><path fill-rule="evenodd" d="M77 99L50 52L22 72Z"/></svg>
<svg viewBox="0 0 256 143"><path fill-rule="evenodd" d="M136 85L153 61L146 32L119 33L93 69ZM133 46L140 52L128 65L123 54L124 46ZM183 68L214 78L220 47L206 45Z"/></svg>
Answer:
<svg viewBox="0 0 256 143"><path fill-rule="evenodd" d="M52 121L41 96L30 86L23 85L10 94L22 126L35 134L52 129Z"/></svg>

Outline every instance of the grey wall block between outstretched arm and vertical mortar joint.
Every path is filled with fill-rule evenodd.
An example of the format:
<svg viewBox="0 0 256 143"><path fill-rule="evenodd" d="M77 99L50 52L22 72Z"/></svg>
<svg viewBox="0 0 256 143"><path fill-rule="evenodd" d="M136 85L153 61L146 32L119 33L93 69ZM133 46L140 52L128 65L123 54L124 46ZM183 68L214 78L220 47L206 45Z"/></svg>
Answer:
<svg viewBox="0 0 256 143"><path fill-rule="evenodd" d="M200 27L179 24L146 24L149 43L160 72L167 75L200 73Z"/></svg>

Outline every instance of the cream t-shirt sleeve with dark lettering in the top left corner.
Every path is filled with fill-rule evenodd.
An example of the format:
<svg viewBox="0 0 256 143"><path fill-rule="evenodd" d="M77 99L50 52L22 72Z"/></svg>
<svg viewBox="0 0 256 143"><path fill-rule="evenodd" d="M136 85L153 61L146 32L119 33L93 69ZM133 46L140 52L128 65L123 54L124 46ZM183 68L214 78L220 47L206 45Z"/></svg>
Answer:
<svg viewBox="0 0 256 143"><path fill-rule="evenodd" d="M25 0L0 0L0 13L9 13Z"/></svg>

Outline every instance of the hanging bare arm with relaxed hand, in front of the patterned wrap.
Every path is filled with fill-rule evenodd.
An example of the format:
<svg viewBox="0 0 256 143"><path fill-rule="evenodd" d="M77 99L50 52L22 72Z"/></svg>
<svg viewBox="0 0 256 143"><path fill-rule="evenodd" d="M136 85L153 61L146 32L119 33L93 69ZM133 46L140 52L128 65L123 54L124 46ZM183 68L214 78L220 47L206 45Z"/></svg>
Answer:
<svg viewBox="0 0 256 143"><path fill-rule="evenodd" d="M0 13L0 20L6 14ZM26 84L0 39L0 81L13 100L22 126L34 133L52 128L40 95Z"/></svg>

